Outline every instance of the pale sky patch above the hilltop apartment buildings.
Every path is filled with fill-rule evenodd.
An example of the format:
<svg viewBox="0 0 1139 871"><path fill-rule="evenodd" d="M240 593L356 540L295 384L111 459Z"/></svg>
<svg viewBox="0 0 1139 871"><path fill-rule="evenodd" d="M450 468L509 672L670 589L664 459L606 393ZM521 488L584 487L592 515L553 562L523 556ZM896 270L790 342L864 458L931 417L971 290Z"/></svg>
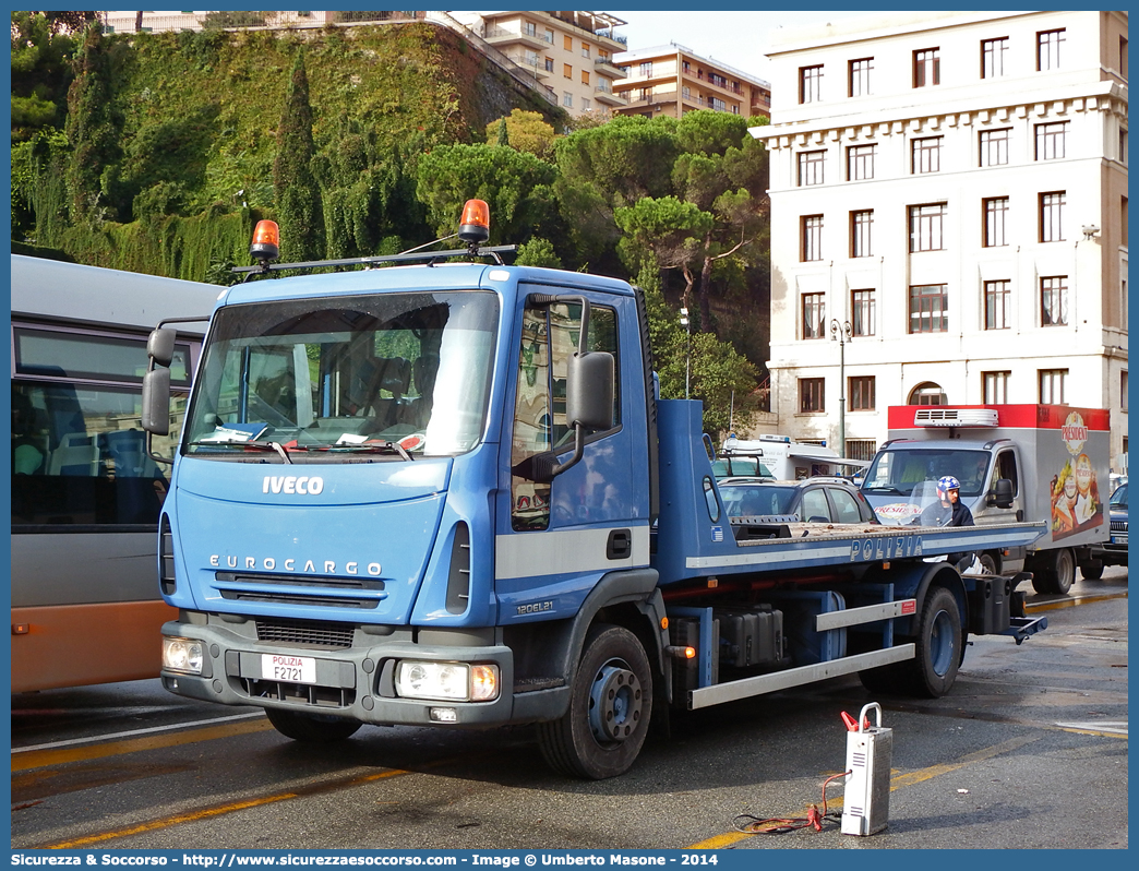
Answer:
<svg viewBox="0 0 1139 871"><path fill-rule="evenodd" d="M679 42L694 54L720 60L769 82L771 62L764 57L763 50L771 31L800 24L826 24L866 14L862 10L605 11L629 22L617 27L617 34L629 39L631 50Z"/></svg>

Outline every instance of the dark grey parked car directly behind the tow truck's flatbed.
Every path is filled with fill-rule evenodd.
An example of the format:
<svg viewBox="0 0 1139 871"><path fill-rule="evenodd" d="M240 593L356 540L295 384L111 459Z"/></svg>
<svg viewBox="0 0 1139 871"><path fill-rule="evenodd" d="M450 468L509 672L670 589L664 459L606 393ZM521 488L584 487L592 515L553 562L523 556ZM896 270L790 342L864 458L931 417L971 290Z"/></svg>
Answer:
<svg viewBox="0 0 1139 871"><path fill-rule="evenodd" d="M877 523L861 491L845 478L763 481L726 478L720 497L729 518L788 518L820 523Z"/></svg>

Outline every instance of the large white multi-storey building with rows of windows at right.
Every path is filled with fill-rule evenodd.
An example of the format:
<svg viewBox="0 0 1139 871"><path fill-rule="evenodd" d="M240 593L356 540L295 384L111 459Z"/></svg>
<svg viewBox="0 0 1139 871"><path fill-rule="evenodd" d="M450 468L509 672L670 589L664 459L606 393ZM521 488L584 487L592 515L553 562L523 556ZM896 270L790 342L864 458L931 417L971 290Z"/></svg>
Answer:
<svg viewBox="0 0 1139 871"><path fill-rule="evenodd" d="M778 31L779 431L868 456L900 404L1109 408L1128 450L1128 14ZM842 434L842 436L839 436Z"/></svg>

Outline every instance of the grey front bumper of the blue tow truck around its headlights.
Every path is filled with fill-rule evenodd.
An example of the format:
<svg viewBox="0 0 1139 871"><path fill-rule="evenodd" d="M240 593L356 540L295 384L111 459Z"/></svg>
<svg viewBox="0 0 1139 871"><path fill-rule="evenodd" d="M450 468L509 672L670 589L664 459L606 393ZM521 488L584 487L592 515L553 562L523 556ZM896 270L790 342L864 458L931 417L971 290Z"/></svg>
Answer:
<svg viewBox="0 0 1139 871"><path fill-rule="evenodd" d="M295 632L295 637L289 638L294 643L282 643L279 633L276 640L263 640L269 633L252 619L182 612L179 620L163 626L163 635L200 641L203 673L186 675L163 669L163 686L202 701L343 716L375 725L490 727L555 719L568 705L568 689L564 685L514 687L514 653L495 643L493 628L338 626L328 630L319 624L313 626L321 632L311 637L304 635L304 625L287 626ZM316 682L267 679L261 669L265 653L314 658ZM499 668L499 697L480 702L400 698L395 693L395 667L402 659L494 664ZM441 707L453 710L453 718L443 723L433 717L433 709Z"/></svg>

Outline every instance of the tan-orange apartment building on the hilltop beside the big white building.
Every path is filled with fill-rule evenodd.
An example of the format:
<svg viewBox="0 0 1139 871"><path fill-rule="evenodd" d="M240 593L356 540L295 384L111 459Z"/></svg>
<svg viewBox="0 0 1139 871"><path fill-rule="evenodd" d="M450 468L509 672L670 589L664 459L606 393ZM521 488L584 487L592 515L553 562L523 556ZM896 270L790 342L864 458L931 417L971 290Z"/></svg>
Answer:
<svg viewBox="0 0 1139 871"><path fill-rule="evenodd" d="M744 117L771 117L771 86L762 79L677 42L623 51L614 58L628 76L616 92L625 98L622 115L669 115L708 108Z"/></svg>

